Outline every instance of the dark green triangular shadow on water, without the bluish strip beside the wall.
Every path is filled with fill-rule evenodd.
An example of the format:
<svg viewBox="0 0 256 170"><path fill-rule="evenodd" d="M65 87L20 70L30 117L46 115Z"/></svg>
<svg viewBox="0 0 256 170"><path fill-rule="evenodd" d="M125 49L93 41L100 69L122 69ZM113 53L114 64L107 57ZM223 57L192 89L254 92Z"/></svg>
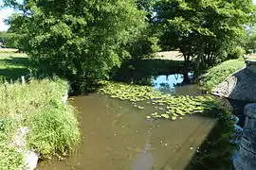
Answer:
<svg viewBox="0 0 256 170"><path fill-rule="evenodd" d="M232 156L238 145L231 141L233 123L219 120L196 150L186 170L231 170Z"/></svg>

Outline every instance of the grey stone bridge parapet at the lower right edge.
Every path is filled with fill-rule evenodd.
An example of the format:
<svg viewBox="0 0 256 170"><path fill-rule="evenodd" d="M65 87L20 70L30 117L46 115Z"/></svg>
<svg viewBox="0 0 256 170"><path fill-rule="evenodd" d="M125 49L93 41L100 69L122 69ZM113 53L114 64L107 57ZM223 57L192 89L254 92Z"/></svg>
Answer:
<svg viewBox="0 0 256 170"><path fill-rule="evenodd" d="M255 65L256 71L256 65ZM246 124L238 157L233 161L235 170L256 170L256 103L245 107Z"/></svg>

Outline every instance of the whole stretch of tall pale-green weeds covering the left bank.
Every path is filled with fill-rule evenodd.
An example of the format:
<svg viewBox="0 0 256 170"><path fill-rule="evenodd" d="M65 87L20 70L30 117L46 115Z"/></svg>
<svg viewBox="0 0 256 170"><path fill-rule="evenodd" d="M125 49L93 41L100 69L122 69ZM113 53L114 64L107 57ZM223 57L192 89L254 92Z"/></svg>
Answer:
<svg viewBox="0 0 256 170"><path fill-rule="evenodd" d="M0 84L0 169L26 167L23 152L40 159L72 151L80 141L75 110L63 104L68 84L61 79ZM26 149L15 143L17 129L27 127Z"/></svg>

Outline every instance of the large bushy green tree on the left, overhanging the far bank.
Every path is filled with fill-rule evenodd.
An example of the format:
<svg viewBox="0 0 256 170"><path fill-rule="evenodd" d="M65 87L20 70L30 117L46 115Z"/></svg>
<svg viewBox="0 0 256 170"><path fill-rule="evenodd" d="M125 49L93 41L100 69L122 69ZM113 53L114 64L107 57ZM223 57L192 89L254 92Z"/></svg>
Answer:
<svg viewBox="0 0 256 170"><path fill-rule="evenodd" d="M146 13L134 0L5 1L20 13L10 29L22 33L27 54L50 73L68 78L80 90L108 76L122 59L131 57L128 42L136 42L146 27Z"/></svg>

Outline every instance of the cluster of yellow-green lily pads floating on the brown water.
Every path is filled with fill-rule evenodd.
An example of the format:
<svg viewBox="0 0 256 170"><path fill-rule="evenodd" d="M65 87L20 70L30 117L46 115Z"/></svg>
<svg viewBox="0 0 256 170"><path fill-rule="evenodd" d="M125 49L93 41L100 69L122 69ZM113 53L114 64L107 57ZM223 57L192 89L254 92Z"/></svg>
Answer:
<svg viewBox="0 0 256 170"><path fill-rule="evenodd" d="M112 98L120 100L129 100L134 107L143 110L143 106L137 103L154 105L154 112L150 113L147 118L165 118L176 120L183 119L183 116L193 113L203 113L206 110L218 109L219 105L215 99L209 95L174 96L171 94L161 93L148 86L129 85L116 82L102 81L104 86L99 90L100 93L109 94Z"/></svg>

